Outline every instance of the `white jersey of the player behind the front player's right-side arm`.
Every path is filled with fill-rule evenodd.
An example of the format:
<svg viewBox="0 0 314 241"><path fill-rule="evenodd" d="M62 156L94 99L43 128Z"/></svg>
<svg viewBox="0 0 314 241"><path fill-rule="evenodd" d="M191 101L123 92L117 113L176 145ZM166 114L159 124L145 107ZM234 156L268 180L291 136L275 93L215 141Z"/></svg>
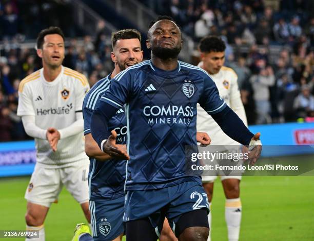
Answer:
<svg viewBox="0 0 314 241"><path fill-rule="evenodd" d="M198 67L202 67L203 63L199 63ZM238 75L231 69L223 66L217 74L210 75L215 82L220 96L226 104L242 119L247 126L245 110L241 101L240 91L238 87ZM207 132L211 138L210 145L241 145L235 140L227 136L208 115L208 113L198 104L197 130Z"/></svg>

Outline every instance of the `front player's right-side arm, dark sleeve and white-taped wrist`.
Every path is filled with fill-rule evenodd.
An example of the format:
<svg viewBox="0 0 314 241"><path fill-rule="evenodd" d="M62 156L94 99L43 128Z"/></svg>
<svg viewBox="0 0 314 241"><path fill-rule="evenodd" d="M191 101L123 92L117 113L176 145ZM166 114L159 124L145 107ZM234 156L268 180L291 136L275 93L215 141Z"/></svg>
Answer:
<svg viewBox="0 0 314 241"><path fill-rule="evenodd" d="M250 159L250 164L254 165L262 152L261 134L257 133L254 135L250 132L239 116L228 106L218 113L211 114L211 116L230 138L242 145L249 146L249 151L251 151L249 157L252 158Z"/></svg>

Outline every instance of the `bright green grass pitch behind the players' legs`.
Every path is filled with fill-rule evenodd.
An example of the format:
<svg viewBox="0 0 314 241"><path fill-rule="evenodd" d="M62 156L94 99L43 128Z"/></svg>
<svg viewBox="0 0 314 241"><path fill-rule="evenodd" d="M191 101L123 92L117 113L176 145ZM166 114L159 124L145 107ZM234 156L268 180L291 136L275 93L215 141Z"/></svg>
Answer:
<svg viewBox="0 0 314 241"><path fill-rule="evenodd" d="M25 228L25 189L29 177L0 179L0 229ZM240 240L314 240L314 176L244 176ZM216 180L212 202L212 240L227 240L224 194ZM46 222L46 240L71 240L85 222L80 206L64 189ZM1 239L5 240L5 239ZM9 240L24 240L10 238Z"/></svg>

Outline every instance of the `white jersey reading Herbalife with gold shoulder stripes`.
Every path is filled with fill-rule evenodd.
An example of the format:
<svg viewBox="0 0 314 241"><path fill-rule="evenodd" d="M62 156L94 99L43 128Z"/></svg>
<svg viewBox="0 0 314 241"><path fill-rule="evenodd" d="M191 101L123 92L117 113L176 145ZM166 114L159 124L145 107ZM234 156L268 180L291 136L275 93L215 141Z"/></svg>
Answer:
<svg viewBox="0 0 314 241"><path fill-rule="evenodd" d="M40 69L19 84L19 116L34 115L35 124L41 129L63 129L76 121L75 112L82 111L83 100L89 84L86 77L62 66L60 74L47 82ZM82 133L60 139L53 152L47 139L35 138L37 163L51 168L65 167L78 160L88 159L84 151Z"/></svg>

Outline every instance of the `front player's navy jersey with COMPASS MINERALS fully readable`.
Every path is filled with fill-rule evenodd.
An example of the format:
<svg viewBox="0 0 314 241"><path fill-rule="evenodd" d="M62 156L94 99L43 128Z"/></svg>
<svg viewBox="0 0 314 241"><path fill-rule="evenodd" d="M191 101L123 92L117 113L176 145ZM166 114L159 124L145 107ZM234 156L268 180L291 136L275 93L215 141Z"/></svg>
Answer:
<svg viewBox="0 0 314 241"><path fill-rule="evenodd" d="M226 107L204 70L179 61L175 70L164 71L144 61L117 74L101 102L115 108L126 104L126 190L201 183L185 172L185 147L197 145L197 103L209 114Z"/></svg>

